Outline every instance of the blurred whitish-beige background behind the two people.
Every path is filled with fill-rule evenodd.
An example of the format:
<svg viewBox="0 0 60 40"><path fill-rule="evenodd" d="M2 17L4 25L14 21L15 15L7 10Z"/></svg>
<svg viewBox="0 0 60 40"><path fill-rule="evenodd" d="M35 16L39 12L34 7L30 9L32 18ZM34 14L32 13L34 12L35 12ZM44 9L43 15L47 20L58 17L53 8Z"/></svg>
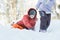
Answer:
<svg viewBox="0 0 60 40"><path fill-rule="evenodd" d="M29 8L35 8L38 0L0 0L0 25L7 25L27 14ZM37 16L40 18L39 14ZM60 20L60 0L52 8L52 20Z"/></svg>

